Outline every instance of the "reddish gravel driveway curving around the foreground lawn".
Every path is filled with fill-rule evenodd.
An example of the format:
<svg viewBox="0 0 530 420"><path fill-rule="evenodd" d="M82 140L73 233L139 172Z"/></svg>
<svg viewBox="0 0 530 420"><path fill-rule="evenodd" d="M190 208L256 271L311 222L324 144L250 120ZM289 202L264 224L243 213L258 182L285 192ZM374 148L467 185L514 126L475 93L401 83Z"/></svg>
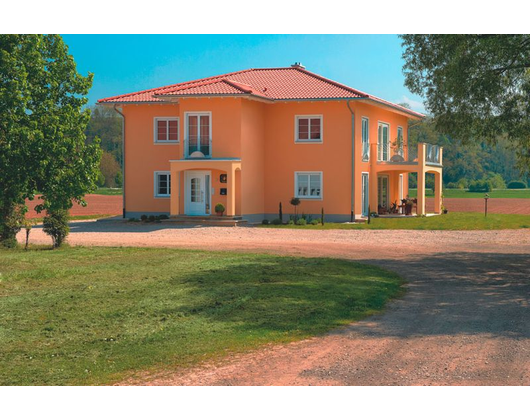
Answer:
<svg viewBox="0 0 530 420"><path fill-rule="evenodd" d="M39 229L33 242L49 243ZM172 228L76 223L73 245L346 258L401 273L406 296L340 331L126 385L530 385L530 231Z"/></svg>

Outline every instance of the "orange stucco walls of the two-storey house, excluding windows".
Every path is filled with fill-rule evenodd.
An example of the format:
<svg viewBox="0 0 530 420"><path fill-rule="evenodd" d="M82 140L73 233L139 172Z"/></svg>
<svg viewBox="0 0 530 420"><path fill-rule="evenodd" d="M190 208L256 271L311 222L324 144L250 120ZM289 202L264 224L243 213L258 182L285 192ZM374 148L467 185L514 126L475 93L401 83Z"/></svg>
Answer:
<svg viewBox="0 0 530 420"><path fill-rule="evenodd" d="M370 142L377 144L378 123L390 124L390 140L403 127L405 140L408 119L399 113L368 103L352 101L355 112L356 185L355 214L362 213L361 174L371 172L362 161L363 117L370 121ZM187 112L212 115L213 158L241 159L236 176L236 212L242 215L275 215L283 203L285 214L291 211L295 195L295 172L322 172L323 199L302 200L301 212L348 216L351 212L351 113L345 101L284 102L268 104L241 98L189 98L175 105L124 105L126 116L126 209L128 213L169 213L170 199L154 197L154 172L169 171L170 160L184 158L185 117ZM323 116L323 143L296 144L295 117ZM154 143L154 119L179 117L180 144ZM372 159L377 159L372 156ZM195 169L207 170L207 164ZM226 197L219 195L219 171L213 171L215 195L212 205ZM391 200L396 201L399 174L391 175ZM404 195L408 177L404 176ZM370 178L370 183L377 179ZM180 208L184 209L184 175L181 174Z"/></svg>

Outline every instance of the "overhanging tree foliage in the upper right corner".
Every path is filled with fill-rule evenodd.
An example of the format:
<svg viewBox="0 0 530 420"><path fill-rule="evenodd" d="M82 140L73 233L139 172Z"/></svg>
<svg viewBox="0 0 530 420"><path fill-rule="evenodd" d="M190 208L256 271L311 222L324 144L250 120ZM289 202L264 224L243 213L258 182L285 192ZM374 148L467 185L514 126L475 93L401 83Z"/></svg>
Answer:
<svg viewBox="0 0 530 420"><path fill-rule="evenodd" d="M530 164L530 34L405 34L406 86L437 129L465 143L515 144Z"/></svg>

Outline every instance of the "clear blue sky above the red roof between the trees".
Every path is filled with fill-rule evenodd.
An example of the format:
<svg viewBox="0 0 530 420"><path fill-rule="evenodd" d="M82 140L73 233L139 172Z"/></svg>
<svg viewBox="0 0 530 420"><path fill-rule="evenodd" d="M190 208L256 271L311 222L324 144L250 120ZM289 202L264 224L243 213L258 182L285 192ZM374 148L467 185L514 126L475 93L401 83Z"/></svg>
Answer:
<svg viewBox="0 0 530 420"><path fill-rule="evenodd" d="M98 99L256 67L302 62L325 77L424 111L404 86L397 35L63 35Z"/></svg>

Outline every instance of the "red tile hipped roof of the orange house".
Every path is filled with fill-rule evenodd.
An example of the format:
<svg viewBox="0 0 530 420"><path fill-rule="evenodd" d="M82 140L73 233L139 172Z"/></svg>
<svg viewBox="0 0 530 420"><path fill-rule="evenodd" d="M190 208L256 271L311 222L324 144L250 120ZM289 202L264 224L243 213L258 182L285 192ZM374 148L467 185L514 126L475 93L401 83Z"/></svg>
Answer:
<svg viewBox="0 0 530 420"><path fill-rule="evenodd" d="M270 101L305 99L367 99L400 111L422 114L350 88L303 67L250 69L191 82L101 99L104 103L157 103L170 97L254 96Z"/></svg>

